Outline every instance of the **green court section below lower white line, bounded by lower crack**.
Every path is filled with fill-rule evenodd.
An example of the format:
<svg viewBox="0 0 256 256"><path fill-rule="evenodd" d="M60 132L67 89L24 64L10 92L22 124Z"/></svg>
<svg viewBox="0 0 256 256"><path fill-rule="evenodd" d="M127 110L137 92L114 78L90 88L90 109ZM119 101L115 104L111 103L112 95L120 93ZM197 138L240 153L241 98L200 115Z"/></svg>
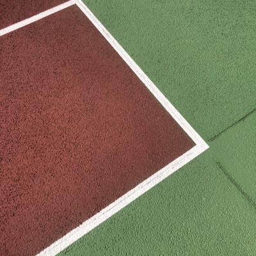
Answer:
<svg viewBox="0 0 256 256"><path fill-rule="evenodd" d="M255 208L203 153L60 255L255 255Z"/></svg>

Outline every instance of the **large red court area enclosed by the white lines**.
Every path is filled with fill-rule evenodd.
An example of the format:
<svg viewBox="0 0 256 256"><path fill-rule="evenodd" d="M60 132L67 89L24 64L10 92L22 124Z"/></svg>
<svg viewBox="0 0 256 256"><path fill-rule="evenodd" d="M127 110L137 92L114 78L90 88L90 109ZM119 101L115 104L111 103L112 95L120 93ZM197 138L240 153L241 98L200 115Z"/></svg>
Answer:
<svg viewBox="0 0 256 256"><path fill-rule="evenodd" d="M35 255L195 145L77 6L0 49L0 255Z"/></svg>

